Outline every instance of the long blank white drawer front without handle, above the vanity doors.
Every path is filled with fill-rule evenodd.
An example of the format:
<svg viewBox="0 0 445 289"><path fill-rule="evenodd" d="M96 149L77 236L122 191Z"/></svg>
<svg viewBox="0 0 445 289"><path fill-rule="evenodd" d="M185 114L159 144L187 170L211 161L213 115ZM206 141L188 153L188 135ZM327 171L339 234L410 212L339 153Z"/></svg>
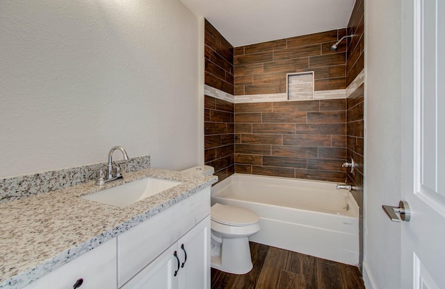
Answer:
<svg viewBox="0 0 445 289"><path fill-rule="evenodd" d="M210 187L118 236L118 287L210 213Z"/></svg>

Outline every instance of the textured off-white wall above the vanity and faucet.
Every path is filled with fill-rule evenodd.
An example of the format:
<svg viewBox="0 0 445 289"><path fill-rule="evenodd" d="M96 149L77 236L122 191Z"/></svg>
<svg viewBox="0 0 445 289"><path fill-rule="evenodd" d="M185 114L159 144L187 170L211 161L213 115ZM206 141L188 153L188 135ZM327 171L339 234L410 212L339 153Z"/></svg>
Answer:
<svg viewBox="0 0 445 289"><path fill-rule="evenodd" d="M0 177L114 145L197 163L198 19L180 1L1 1L0 43Z"/></svg>

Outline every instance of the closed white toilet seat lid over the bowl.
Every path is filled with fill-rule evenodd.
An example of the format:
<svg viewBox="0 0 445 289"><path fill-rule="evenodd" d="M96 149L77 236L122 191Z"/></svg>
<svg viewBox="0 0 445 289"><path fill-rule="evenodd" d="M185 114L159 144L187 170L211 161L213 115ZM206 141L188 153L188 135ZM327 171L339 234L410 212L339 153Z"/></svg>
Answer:
<svg viewBox="0 0 445 289"><path fill-rule="evenodd" d="M222 205L211 206L211 220L230 226L248 226L259 221L259 217L252 210L237 206Z"/></svg>

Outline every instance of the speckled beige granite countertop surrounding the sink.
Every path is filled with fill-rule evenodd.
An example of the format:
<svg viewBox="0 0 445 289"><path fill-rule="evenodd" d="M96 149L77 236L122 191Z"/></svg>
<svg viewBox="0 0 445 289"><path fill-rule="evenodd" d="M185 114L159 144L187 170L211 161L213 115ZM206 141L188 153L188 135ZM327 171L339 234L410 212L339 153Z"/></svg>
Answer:
<svg viewBox="0 0 445 289"><path fill-rule="evenodd" d="M182 183L125 208L80 198L147 176ZM0 288L23 288L216 181L147 169L102 187L90 182L0 204Z"/></svg>

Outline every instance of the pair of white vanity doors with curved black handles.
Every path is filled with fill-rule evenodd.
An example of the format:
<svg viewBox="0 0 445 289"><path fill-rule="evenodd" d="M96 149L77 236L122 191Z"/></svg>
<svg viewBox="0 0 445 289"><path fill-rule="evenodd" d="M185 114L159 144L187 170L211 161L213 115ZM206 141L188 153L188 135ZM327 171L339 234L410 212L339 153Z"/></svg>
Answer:
<svg viewBox="0 0 445 289"><path fill-rule="evenodd" d="M122 289L210 288L210 216L149 263Z"/></svg>

